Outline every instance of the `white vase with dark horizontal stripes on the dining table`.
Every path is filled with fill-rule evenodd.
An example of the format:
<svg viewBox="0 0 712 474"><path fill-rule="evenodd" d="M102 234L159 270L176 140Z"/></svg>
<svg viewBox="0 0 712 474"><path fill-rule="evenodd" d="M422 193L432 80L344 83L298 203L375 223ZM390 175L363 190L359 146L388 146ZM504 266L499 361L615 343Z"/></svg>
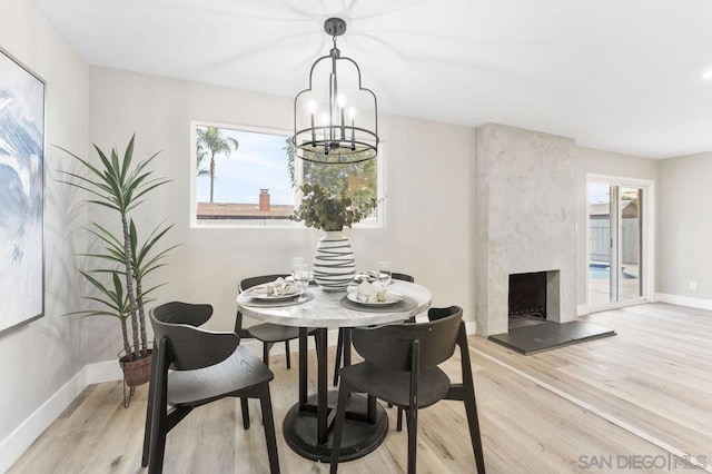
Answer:
<svg viewBox="0 0 712 474"><path fill-rule="evenodd" d="M316 246L314 280L325 292L345 292L356 276L352 243L339 231L327 231Z"/></svg>

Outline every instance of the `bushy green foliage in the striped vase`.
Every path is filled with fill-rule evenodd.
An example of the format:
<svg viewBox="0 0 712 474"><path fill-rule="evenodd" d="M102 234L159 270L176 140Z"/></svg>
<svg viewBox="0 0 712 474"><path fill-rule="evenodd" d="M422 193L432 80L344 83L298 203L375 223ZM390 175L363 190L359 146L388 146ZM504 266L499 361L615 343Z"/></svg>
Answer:
<svg viewBox="0 0 712 474"><path fill-rule="evenodd" d="M376 208L376 199L355 204L350 197L333 195L319 185L303 185L301 204L289 218L297 223L304 221L306 227L326 231L343 230L352 224L360 221Z"/></svg>

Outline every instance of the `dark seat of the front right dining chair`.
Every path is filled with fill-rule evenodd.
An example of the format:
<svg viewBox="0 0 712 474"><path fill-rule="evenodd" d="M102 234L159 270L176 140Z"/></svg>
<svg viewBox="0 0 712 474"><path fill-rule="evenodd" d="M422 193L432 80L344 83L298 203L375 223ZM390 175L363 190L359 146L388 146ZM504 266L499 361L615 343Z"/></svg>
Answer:
<svg viewBox="0 0 712 474"><path fill-rule="evenodd" d="M407 408L411 394L411 373L392 371L364 362L344 367L339 376L354 387L356 392L368 392L376 398L393 405ZM451 382L438 367L421 372L418 377L418 408L423 408L443 399L449 391Z"/></svg>

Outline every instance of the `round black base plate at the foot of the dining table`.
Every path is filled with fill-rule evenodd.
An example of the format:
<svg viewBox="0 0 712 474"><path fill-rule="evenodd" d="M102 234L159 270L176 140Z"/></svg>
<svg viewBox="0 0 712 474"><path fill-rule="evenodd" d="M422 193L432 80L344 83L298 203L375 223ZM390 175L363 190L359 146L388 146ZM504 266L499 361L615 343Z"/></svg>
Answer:
<svg viewBox="0 0 712 474"><path fill-rule="evenodd" d="M330 391L329 407L336 407L338 392ZM307 403L316 405L317 395L310 395ZM347 413L363 413L367 411L367 398L353 394L346 407ZM307 460L328 463L332 460L332 434L326 443L317 442L317 414L314 411L299 409L299 404L293 406L285 417L283 431L289 447ZM388 415L380 404L376 404L376 423L369 424L364 419L346 417L339 461L353 461L367 455L383 443L388 432Z"/></svg>

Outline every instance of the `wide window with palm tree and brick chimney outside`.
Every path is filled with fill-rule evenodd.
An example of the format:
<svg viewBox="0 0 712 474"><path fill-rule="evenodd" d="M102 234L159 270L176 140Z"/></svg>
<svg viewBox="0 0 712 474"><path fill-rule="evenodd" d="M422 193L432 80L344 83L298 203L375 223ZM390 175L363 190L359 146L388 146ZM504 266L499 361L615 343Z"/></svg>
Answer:
<svg viewBox="0 0 712 474"><path fill-rule="evenodd" d="M383 203L379 159L324 165L294 157L287 132L194 122L192 227L293 227L299 186L320 185L358 203ZM379 226L383 205L362 227Z"/></svg>

